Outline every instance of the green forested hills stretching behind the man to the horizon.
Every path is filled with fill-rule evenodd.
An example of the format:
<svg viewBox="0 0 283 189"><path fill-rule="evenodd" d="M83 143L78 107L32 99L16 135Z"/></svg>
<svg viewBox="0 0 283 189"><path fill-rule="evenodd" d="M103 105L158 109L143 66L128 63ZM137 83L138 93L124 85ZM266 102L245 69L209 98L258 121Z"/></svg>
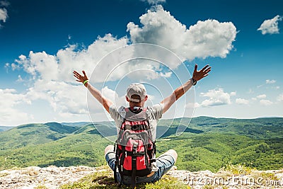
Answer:
<svg viewBox="0 0 283 189"><path fill-rule="evenodd" d="M103 165L104 148L112 144L109 138L114 140L116 129L113 122L94 125L49 122L4 130L0 169ZM175 149L179 169L218 171L229 162L264 170L283 168L283 118L160 120L157 137L158 154Z"/></svg>

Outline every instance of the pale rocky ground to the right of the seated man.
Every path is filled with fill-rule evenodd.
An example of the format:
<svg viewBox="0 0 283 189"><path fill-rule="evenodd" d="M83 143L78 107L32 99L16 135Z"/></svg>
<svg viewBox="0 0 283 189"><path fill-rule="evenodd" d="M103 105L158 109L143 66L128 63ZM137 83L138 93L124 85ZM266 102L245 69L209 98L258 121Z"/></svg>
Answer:
<svg viewBox="0 0 283 189"><path fill-rule="evenodd" d="M263 173L263 174L262 174ZM271 174L268 174L271 173ZM171 175L183 183L190 185L191 188L283 188L283 170L275 171L252 171L248 175L233 175L229 171L168 171Z"/></svg>

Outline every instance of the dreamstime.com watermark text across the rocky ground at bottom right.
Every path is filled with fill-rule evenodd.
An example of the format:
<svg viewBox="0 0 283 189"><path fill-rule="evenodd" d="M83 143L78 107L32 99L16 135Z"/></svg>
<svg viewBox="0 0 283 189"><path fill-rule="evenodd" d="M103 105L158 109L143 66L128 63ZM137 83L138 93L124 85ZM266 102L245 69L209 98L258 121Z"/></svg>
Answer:
<svg viewBox="0 0 283 189"><path fill-rule="evenodd" d="M197 185L225 185L225 186L272 186L282 187L282 180L272 180L264 177L252 177L246 175L246 171L240 170L237 176L193 176L190 174L184 175L183 183L191 186Z"/></svg>

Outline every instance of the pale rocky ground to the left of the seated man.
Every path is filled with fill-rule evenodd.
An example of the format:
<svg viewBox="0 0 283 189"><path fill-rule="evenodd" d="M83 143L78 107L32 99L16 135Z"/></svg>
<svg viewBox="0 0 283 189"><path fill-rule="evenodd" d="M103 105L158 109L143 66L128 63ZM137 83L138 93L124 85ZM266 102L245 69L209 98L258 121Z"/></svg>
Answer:
<svg viewBox="0 0 283 189"><path fill-rule="evenodd" d="M5 170L0 171L0 188L31 189L44 185L45 188L55 189L59 185L78 181L95 171L97 168L86 166L49 166L47 168L33 166L18 170Z"/></svg>

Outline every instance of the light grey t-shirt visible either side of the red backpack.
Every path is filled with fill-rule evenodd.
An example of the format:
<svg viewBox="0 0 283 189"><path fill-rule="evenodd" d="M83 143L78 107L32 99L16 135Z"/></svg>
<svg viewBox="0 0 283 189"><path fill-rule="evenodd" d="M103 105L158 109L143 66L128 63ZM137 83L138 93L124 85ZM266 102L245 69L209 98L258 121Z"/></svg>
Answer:
<svg viewBox="0 0 283 189"><path fill-rule="evenodd" d="M149 120L149 127L152 134L152 139L156 140L156 126L158 120L162 117L164 105L163 103L158 103L153 105L152 107L148 107L146 110L146 118ZM124 106L121 106L119 109L116 108L115 104L110 105L109 113L111 118L115 121L117 127L117 133L119 133L122 122L124 121L126 110ZM156 166L156 162L152 165L152 171L157 171L158 168Z"/></svg>

